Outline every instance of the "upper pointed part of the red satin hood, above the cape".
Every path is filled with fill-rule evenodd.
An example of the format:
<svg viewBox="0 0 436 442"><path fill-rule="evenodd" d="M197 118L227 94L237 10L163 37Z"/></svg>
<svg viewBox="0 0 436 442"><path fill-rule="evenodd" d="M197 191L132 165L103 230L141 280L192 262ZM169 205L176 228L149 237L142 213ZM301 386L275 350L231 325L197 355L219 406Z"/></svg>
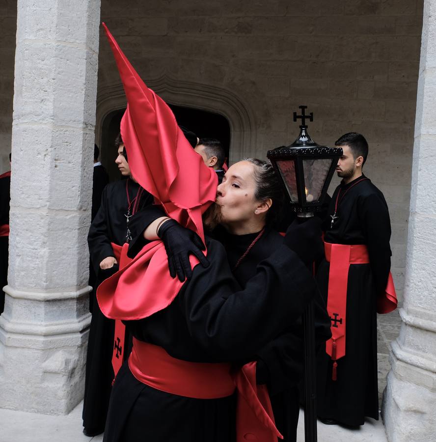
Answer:
<svg viewBox="0 0 436 442"><path fill-rule="evenodd" d="M169 216L203 238L201 213L215 200L216 173L192 149L164 100L145 85L104 23L103 27L127 97L121 137L132 174Z"/></svg>

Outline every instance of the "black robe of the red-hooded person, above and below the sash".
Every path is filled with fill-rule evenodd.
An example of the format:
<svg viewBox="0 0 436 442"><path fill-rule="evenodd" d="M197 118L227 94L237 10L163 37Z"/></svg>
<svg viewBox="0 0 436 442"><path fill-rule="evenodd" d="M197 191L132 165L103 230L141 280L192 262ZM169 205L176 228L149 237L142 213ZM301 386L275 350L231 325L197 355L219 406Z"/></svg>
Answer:
<svg viewBox="0 0 436 442"><path fill-rule="evenodd" d="M281 245L241 289L221 244L207 238L210 265L197 265L175 300L140 321L127 322L137 339L195 362L252 360L296 320L316 292L298 256ZM232 442L234 396L192 399L136 381L125 363L115 380L105 442Z"/></svg>

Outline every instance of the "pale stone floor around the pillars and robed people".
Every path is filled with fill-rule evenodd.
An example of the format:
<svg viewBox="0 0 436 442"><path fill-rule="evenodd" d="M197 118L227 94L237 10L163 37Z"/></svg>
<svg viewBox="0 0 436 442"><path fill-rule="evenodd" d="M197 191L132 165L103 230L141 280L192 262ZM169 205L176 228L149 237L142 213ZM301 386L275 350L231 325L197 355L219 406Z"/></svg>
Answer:
<svg viewBox="0 0 436 442"><path fill-rule="evenodd" d="M398 336L401 320L398 310L378 318L379 397L386 386L390 342ZM381 403L381 401L380 401ZM66 416L25 413L0 409L0 442L102 442L103 435L94 438L82 434L82 404ZM304 441L304 415L300 412L298 442ZM367 419L359 429L350 430L318 422L320 442L386 442L381 420Z"/></svg>

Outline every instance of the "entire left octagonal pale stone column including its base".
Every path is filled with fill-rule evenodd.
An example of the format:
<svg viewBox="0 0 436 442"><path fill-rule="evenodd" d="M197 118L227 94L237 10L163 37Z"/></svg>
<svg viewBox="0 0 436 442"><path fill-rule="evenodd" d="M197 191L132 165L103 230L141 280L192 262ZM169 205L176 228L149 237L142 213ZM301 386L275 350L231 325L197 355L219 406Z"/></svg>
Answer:
<svg viewBox="0 0 436 442"><path fill-rule="evenodd" d="M83 396L99 0L18 0L0 407Z"/></svg>

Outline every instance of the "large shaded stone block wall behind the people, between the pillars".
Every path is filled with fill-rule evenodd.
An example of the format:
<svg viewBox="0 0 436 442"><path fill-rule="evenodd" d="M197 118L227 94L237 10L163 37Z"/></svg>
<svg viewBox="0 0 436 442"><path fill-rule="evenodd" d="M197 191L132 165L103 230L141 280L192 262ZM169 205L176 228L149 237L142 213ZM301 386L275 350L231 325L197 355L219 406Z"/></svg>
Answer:
<svg viewBox="0 0 436 442"><path fill-rule="evenodd" d="M390 209L401 298L422 7L422 0L103 0L101 17L146 83L165 76L192 90L233 93L252 118L250 155L292 142L292 112L301 104L314 112L309 132L319 143L364 134L365 173ZM119 80L105 38L99 62L99 94L106 94ZM231 159L246 151L231 145Z"/></svg>

